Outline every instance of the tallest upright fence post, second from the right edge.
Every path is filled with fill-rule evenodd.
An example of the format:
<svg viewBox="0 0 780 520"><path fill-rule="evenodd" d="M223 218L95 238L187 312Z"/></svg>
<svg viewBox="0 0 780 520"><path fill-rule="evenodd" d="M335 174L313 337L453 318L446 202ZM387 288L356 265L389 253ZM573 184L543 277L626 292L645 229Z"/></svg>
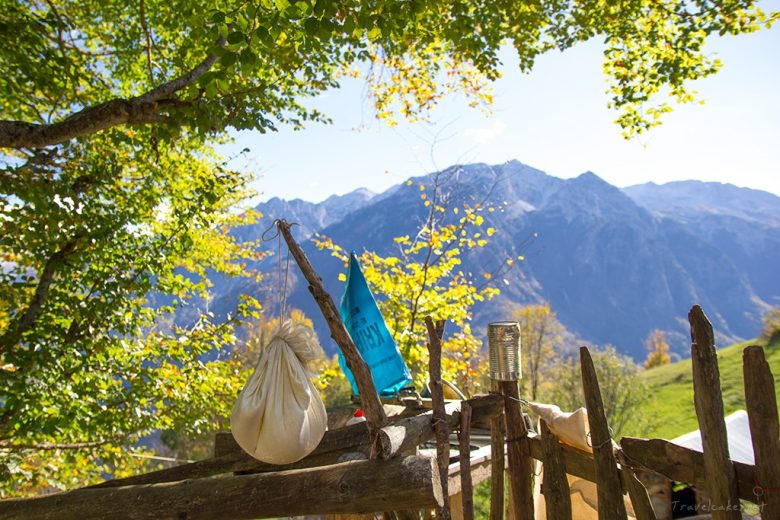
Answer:
<svg viewBox="0 0 780 520"><path fill-rule="evenodd" d="M693 401L704 451L705 490L712 501L712 518L738 520L740 513L737 479L729 459L723 397L720 390L718 355L712 324L698 305L688 313L691 325Z"/></svg>

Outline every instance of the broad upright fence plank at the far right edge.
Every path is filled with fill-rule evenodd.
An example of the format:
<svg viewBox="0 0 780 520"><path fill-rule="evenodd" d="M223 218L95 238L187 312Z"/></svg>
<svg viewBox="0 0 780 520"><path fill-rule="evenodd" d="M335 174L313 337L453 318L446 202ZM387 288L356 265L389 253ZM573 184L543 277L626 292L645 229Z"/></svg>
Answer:
<svg viewBox="0 0 780 520"><path fill-rule="evenodd" d="M764 349L751 346L743 350L742 370L761 518L780 518L780 422L774 377Z"/></svg>

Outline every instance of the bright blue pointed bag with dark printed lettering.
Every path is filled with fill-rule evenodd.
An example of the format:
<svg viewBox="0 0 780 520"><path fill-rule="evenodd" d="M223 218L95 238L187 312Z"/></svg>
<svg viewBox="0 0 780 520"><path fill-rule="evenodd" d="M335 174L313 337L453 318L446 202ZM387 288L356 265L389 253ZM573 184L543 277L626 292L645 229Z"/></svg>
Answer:
<svg viewBox="0 0 780 520"><path fill-rule="evenodd" d="M396 395L399 390L412 382L409 368L387 329L354 252L349 256L347 285L341 297L339 314L360 355L371 369L371 376L374 378L374 385L379 395ZM357 394L355 378L347 368L341 351L339 351L339 365L352 385L352 392Z"/></svg>

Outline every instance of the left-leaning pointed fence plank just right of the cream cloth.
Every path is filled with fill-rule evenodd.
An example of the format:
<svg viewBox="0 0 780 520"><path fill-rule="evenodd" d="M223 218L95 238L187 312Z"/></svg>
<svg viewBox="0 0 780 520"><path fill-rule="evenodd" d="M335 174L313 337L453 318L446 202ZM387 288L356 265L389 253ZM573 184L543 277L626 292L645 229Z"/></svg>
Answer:
<svg viewBox="0 0 780 520"><path fill-rule="evenodd" d="M617 520L627 518L623 502L623 489L620 472L612 450L612 438L609 433L604 403L601 400L596 369L587 347L580 348L582 368L582 389L588 409L590 440L593 445L593 458L596 461L596 486L599 500L599 519Z"/></svg>

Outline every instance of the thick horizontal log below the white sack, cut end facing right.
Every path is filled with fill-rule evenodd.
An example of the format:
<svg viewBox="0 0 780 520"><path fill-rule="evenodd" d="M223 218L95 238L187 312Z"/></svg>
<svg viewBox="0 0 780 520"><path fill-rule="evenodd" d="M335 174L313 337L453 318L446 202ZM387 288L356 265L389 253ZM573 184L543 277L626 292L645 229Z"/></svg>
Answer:
<svg viewBox="0 0 780 520"><path fill-rule="evenodd" d="M444 502L435 463L410 456L307 470L236 475L164 484L79 489L0 501L5 520L252 519L368 513Z"/></svg>

